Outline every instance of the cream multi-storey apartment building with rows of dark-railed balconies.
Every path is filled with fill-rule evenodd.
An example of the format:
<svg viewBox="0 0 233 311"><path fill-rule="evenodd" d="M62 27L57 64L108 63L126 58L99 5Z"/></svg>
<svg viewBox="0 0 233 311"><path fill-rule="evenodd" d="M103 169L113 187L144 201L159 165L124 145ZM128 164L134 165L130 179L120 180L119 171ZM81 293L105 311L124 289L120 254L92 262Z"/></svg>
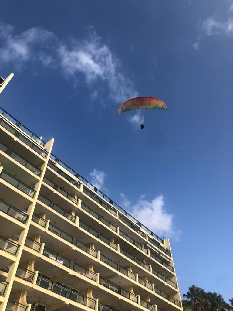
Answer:
<svg viewBox="0 0 233 311"><path fill-rule="evenodd" d="M0 108L0 310L182 310L169 240L53 143Z"/></svg>

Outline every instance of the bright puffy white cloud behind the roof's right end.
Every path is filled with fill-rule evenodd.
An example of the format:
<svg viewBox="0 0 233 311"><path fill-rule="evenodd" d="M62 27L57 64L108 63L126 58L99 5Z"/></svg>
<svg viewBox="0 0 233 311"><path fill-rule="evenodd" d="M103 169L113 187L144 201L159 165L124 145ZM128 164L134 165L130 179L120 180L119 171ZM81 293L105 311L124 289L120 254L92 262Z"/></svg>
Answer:
<svg viewBox="0 0 233 311"><path fill-rule="evenodd" d="M168 214L164 209L164 198L162 195L154 198L152 201L147 201L144 196L141 196L134 205L125 194L121 193L122 207L130 209L130 213L143 225L152 230L155 234L161 237L173 238L179 240L181 230L174 228L173 215Z"/></svg>

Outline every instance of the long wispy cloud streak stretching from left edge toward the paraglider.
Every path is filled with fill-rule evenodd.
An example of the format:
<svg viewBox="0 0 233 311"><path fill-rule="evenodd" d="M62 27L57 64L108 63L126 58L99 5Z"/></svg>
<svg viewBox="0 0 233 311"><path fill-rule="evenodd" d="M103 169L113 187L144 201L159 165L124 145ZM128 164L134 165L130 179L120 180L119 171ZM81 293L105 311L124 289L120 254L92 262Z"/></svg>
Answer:
<svg viewBox="0 0 233 311"><path fill-rule="evenodd" d="M106 97L106 102L119 105L138 96L133 81L125 75L120 60L103 43L93 27L89 27L85 40L72 38L62 42L46 29L33 27L16 34L14 27L1 23L0 27L0 64L11 63L21 69L26 62L40 62L43 66L56 67L64 77L78 81L84 77L91 87L92 100L97 96L94 89L102 83L99 96ZM53 65L53 66L51 66Z"/></svg>

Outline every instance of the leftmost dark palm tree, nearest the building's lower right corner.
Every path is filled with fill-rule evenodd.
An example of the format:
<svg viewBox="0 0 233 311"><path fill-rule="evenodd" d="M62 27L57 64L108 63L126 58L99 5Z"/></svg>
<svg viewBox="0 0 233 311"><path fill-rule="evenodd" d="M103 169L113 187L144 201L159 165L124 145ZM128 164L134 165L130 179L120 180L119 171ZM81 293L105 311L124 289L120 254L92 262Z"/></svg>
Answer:
<svg viewBox="0 0 233 311"><path fill-rule="evenodd" d="M206 311L208 310L209 304L206 302L206 292L200 288L192 285L189 287L189 291L183 295L183 298L186 298L186 303L191 303L192 311Z"/></svg>

